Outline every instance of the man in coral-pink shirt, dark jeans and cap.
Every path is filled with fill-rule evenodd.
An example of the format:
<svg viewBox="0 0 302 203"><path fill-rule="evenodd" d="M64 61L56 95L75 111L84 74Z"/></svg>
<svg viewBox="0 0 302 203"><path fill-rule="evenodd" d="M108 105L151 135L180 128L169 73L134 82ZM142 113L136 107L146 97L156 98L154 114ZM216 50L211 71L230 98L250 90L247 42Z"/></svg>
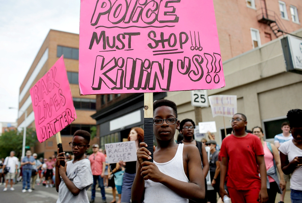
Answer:
<svg viewBox="0 0 302 203"><path fill-rule="evenodd" d="M104 182L103 177L105 173L105 167L106 167L106 158L105 155L98 151L99 146L98 144L92 145L92 151L93 154L89 156L89 161L91 164L91 170L92 170L92 176L93 176L93 184L91 188L91 200L90 202L95 201L95 185L96 181L98 181L98 185L101 188L101 194L103 202L106 202L105 197L105 188L104 188Z"/></svg>

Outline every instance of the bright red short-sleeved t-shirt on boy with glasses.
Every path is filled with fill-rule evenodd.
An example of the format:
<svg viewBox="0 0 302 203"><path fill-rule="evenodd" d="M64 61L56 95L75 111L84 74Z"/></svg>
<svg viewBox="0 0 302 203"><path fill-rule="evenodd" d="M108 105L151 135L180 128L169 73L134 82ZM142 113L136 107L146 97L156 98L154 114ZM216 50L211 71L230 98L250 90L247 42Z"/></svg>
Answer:
<svg viewBox="0 0 302 203"><path fill-rule="evenodd" d="M222 141L220 155L229 158L226 186L236 190L261 187L256 156L264 155L260 139L248 133L245 137L233 134Z"/></svg>

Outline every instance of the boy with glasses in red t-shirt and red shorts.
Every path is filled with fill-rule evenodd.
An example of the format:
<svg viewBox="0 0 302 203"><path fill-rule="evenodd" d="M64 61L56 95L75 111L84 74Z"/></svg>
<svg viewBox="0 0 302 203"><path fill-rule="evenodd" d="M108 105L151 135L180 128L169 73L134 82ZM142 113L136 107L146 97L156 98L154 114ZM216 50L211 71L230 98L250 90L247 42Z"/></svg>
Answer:
<svg viewBox="0 0 302 203"><path fill-rule="evenodd" d="M234 134L223 139L220 149L220 195L227 195L223 187L227 172L226 186L232 203L264 203L268 194L262 144L257 136L245 132L244 114L235 114L231 123Z"/></svg>

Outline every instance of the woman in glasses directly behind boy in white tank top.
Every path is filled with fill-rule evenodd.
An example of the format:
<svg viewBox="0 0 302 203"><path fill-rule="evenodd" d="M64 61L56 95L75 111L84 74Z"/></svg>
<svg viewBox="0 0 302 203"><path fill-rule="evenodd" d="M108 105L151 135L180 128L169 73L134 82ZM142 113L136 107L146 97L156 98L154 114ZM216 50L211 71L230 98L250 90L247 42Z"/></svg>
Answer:
<svg viewBox="0 0 302 203"><path fill-rule="evenodd" d="M194 139L194 128L195 128L195 123L191 119L185 119L180 122L180 128L179 132L183 134L184 138L182 141L177 142L177 144L184 143L184 145L195 145L198 148L200 158L201 158L201 164L203 166L202 172L204 173L204 180L205 180L205 190L206 190L206 196L204 198L204 201L202 202L207 202L207 182L206 182L206 177L207 173L209 172L210 164L207 159L207 151L205 149L205 146L202 142L198 142ZM193 202L189 200L189 202Z"/></svg>

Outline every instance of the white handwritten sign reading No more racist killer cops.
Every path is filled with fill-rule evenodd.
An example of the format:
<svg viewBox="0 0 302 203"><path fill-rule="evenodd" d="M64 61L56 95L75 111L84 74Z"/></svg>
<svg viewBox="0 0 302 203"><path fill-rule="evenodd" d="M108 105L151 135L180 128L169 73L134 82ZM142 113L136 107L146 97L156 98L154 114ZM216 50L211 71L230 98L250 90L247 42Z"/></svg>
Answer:
<svg viewBox="0 0 302 203"><path fill-rule="evenodd" d="M105 144L105 149L109 164L137 160L135 141Z"/></svg>

